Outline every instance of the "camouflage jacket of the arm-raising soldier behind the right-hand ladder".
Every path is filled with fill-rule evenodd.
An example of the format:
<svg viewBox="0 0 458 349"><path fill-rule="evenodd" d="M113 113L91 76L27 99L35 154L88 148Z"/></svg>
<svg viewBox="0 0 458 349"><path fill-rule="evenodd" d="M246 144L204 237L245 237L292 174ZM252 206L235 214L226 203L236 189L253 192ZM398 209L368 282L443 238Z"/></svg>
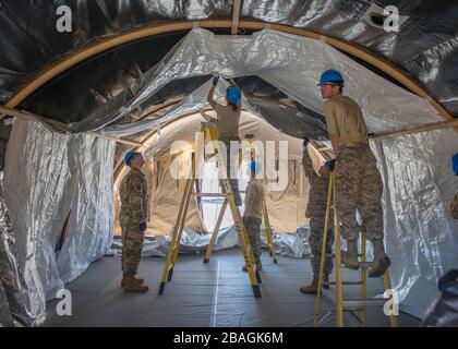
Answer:
<svg viewBox="0 0 458 349"><path fill-rule="evenodd" d="M309 204L306 205L305 217L322 217L326 213L329 179L322 178L315 172L306 148L302 154L302 166L310 183Z"/></svg>

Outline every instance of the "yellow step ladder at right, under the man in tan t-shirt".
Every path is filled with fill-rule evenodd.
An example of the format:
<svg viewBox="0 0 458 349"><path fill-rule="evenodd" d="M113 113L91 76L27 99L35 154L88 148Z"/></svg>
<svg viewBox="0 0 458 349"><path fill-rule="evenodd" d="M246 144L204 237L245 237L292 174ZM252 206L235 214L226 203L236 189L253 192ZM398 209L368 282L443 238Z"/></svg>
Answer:
<svg viewBox="0 0 458 349"><path fill-rule="evenodd" d="M360 281L343 281L342 280L342 260L341 260L341 251L340 251L340 221L337 215L336 209L334 209L334 227L335 227L335 281L323 281L323 272L324 272L324 264L326 256L326 242L327 242L327 232L329 226L329 215L332 209L333 203L333 192L334 192L334 172L330 173L329 178L329 186L327 193L327 205L326 205L326 218L325 218L325 227L323 232L323 245L322 245L322 254L320 260L320 275L318 275L318 285L317 285L317 292L316 292L316 302L315 302L315 315L314 315L314 326L318 326L318 316L320 316L320 299L322 296L322 286L323 285L335 285L336 286L336 315L337 315L337 326L343 327L343 312L359 312L360 316L355 317L360 322L362 326L366 325L366 306L384 306L387 301L390 301L390 298L372 298L367 299L367 276L366 269L371 266L372 263L365 261L365 231L361 230L361 261L359 262L359 266L361 268L361 280ZM334 195L335 196L335 195ZM334 207L335 208L335 207ZM334 255L332 255L334 256ZM343 285L360 285L361 286L361 299L343 299ZM391 290L391 280L389 277L389 272L386 269L384 274L384 286L385 286L385 293L388 290ZM388 291L389 292L389 291ZM388 293L389 294L389 293ZM329 315L332 312L327 313L323 320ZM389 320L391 327L398 327L398 316L390 312Z"/></svg>

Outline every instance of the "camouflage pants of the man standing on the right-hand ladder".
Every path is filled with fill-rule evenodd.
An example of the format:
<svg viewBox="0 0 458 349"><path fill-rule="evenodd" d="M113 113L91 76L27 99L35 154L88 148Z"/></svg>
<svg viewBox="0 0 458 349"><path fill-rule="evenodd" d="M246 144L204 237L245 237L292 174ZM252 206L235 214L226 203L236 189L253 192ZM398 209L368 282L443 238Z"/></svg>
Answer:
<svg viewBox="0 0 458 349"><path fill-rule="evenodd" d="M367 239L383 239L383 184L371 148L341 148L336 160L335 180L336 207L342 236L349 240L359 238L358 209Z"/></svg>

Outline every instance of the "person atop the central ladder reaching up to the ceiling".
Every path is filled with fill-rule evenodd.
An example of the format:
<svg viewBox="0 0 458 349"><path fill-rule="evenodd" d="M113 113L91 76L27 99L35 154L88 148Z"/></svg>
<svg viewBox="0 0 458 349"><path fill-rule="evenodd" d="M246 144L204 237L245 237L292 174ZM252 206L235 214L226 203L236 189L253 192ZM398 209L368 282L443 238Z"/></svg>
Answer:
<svg viewBox="0 0 458 349"><path fill-rule="evenodd" d="M232 189L232 193L236 198L236 205L241 206L242 205L242 197L240 196L239 192L239 180L237 179L237 173L233 173L231 176L231 167L230 167L230 143L231 141L240 142L239 137L239 120L240 120L240 112L241 112L241 98L242 94L240 93L240 89L237 86L229 86L226 89L226 99L227 105L222 106L218 103L216 103L213 99L213 94L215 93L216 85L218 83L219 77L214 77L213 80L213 86L208 93L207 101L209 105L215 109L215 112L217 115L217 119L214 119L205 113L202 113L203 117L207 121L215 122L216 129L218 130L219 134L219 141L222 142L226 146L226 171L227 176L230 179L230 186ZM222 155L225 156L225 155ZM236 169L234 166L232 166L233 169ZM236 177L236 178L233 178ZM222 184L220 183L221 189Z"/></svg>

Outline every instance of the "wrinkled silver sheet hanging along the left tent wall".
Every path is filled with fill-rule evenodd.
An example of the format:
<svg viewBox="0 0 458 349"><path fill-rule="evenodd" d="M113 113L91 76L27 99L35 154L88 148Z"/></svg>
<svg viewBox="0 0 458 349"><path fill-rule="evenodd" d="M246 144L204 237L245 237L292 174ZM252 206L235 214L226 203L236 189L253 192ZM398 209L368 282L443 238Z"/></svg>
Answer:
<svg viewBox="0 0 458 349"><path fill-rule="evenodd" d="M51 133L36 122L13 123L4 198L38 324L46 300L111 244L114 146L100 137ZM68 217L64 243L56 251Z"/></svg>

